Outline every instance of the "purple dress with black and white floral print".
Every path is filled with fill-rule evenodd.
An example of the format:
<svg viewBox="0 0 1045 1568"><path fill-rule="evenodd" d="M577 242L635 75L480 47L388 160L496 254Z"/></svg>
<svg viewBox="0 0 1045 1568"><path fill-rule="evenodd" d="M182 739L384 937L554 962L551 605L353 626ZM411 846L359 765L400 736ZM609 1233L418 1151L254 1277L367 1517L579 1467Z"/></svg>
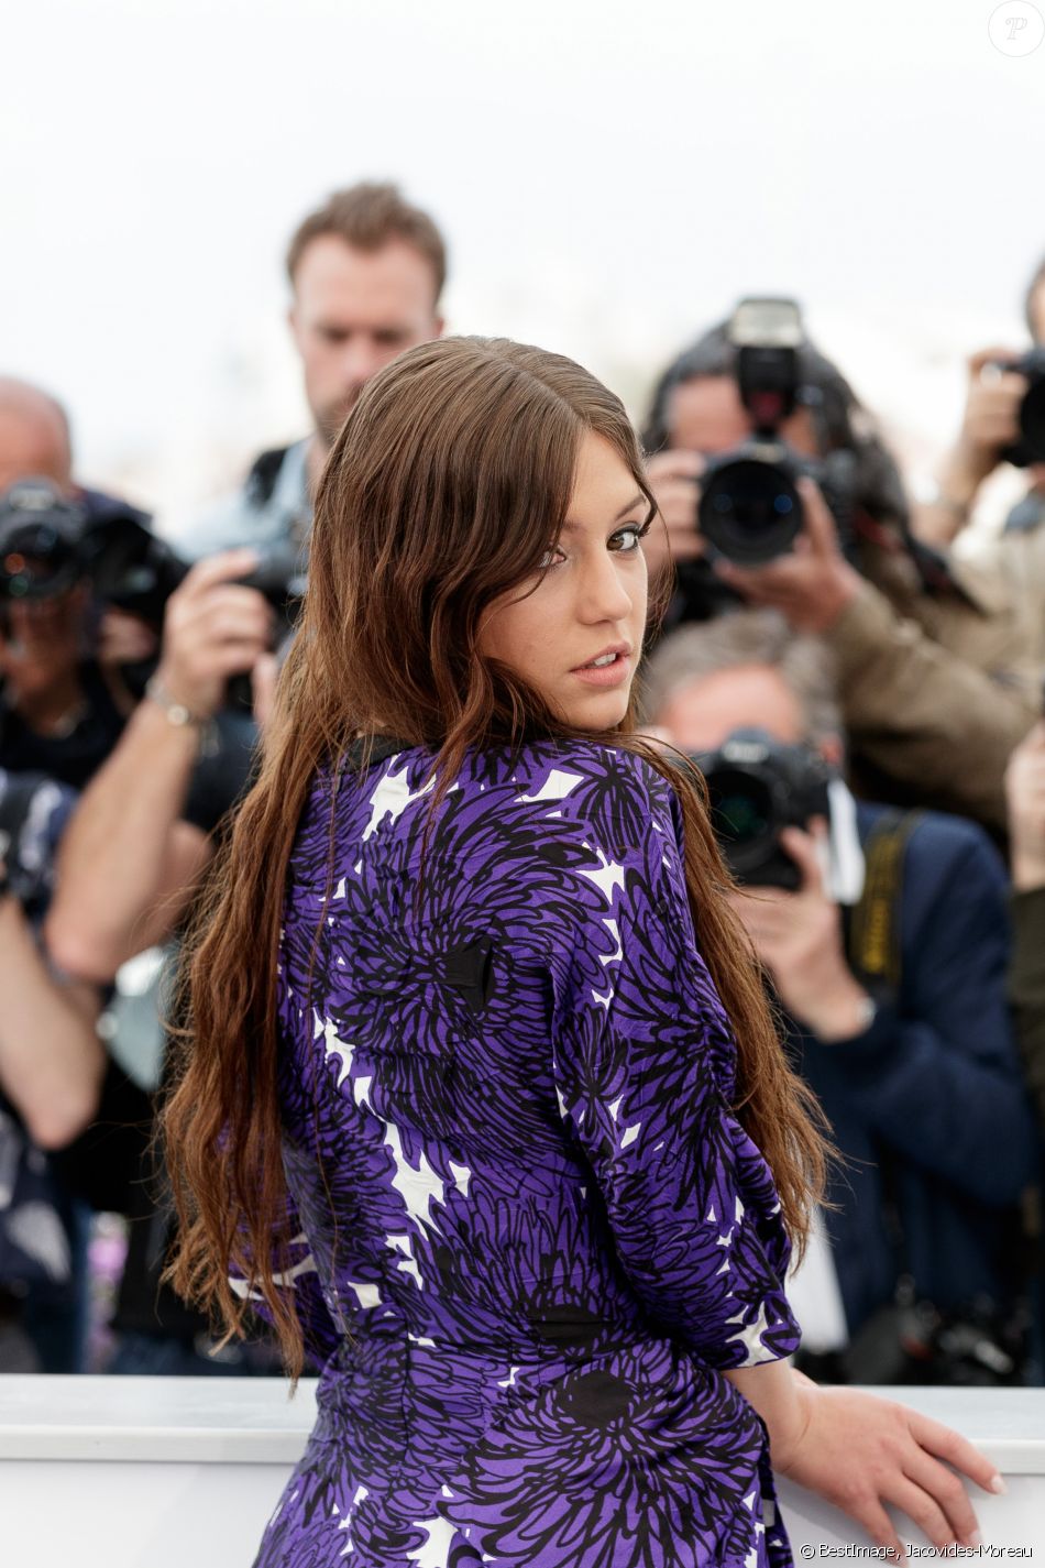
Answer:
<svg viewBox="0 0 1045 1568"><path fill-rule="evenodd" d="M635 756L420 750L318 779L279 971L282 1284L323 1364L260 1568L791 1562L724 1367L790 1355L671 787ZM318 942L318 946L316 946Z"/></svg>

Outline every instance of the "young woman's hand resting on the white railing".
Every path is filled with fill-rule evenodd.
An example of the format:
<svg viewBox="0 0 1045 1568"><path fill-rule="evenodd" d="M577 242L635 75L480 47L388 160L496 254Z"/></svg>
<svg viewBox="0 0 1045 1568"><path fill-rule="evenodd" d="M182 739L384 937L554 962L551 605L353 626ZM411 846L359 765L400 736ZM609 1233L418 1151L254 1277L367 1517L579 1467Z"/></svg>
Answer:
<svg viewBox="0 0 1045 1568"><path fill-rule="evenodd" d="M981 1544L956 1471L989 1493L1004 1491L1004 1482L971 1443L895 1400L796 1380L802 1422L782 1449L772 1446L779 1474L841 1508L895 1560L904 1549L885 1504L902 1508L937 1548Z"/></svg>

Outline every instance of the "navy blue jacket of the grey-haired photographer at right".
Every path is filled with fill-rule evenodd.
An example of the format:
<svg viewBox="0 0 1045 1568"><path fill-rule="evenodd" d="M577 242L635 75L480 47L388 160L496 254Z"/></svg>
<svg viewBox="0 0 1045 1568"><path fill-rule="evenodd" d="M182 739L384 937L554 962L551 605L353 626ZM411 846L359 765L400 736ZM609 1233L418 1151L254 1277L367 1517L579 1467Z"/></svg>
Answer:
<svg viewBox="0 0 1045 1568"><path fill-rule="evenodd" d="M884 808L859 804L866 844ZM910 1272L951 1308L1012 1287L1014 1209L1036 1167L1036 1129L1006 1004L1006 875L982 829L927 812L904 853L898 994L855 1040L794 1035L849 1160L827 1215L855 1333ZM882 1157L902 1223L885 1218Z"/></svg>

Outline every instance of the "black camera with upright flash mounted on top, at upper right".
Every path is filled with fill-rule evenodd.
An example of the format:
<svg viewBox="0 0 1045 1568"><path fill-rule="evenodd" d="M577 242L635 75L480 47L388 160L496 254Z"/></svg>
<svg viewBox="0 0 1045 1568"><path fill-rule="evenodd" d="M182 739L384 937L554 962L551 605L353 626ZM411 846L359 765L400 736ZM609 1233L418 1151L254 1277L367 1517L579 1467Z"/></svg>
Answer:
<svg viewBox="0 0 1045 1568"><path fill-rule="evenodd" d="M752 436L708 459L700 480L700 533L738 566L785 555L805 522L796 481L815 480L833 513L843 549L852 539L854 458L833 452L807 458L780 437L801 400L797 351L805 342L794 299L741 299L727 334L736 348L736 384Z"/></svg>

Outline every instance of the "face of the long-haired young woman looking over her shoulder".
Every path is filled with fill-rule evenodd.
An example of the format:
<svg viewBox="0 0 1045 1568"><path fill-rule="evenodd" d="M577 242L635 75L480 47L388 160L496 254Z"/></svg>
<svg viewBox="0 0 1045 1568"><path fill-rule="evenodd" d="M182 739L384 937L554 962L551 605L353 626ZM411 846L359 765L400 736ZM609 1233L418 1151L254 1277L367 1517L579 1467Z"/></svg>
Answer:
<svg viewBox="0 0 1045 1568"><path fill-rule="evenodd" d="M645 629L649 502L602 436L581 441L573 495L548 569L494 601L479 651L500 659L577 729L611 729L628 707ZM523 594L525 597L520 597ZM614 657L600 666L592 660Z"/></svg>

